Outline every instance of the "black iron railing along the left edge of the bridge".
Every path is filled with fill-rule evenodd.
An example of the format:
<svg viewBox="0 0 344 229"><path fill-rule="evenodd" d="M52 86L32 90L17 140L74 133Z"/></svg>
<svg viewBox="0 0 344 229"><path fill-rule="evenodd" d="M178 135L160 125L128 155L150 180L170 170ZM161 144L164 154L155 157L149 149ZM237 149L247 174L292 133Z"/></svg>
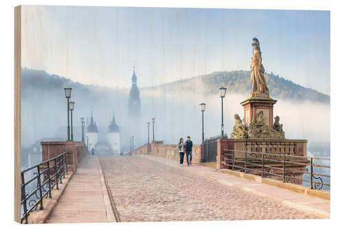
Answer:
<svg viewBox="0 0 344 229"><path fill-rule="evenodd" d="M64 152L21 171L21 223L28 223L28 215L38 206L43 210L43 198L51 198L54 187L58 190L58 182L62 184L68 174L67 157Z"/></svg>

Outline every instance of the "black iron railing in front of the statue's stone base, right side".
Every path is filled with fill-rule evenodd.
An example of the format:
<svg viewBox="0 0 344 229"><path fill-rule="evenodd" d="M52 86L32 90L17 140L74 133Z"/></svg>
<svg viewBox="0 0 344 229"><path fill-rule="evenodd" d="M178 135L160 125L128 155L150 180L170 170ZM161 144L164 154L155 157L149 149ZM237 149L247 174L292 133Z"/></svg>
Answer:
<svg viewBox="0 0 344 229"><path fill-rule="evenodd" d="M244 173L253 173L261 177L279 177L283 182L294 183L299 179L300 183L307 182L310 188L321 189L323 186L330 188L330 158L327 157L301 157L288 154L259 153L250 151L224 149L224 164L232 170ZM324 164L314 164L314 161L322 161ZM326 163L327 162L327 163ZM297 170L299 168L299 170ZM327 169L328 173L314 171L314 168ZM319 170L319 169L318 169ZM298 176L299 175L299 176ZM304 175L308 175L305 177Z"/></svg>

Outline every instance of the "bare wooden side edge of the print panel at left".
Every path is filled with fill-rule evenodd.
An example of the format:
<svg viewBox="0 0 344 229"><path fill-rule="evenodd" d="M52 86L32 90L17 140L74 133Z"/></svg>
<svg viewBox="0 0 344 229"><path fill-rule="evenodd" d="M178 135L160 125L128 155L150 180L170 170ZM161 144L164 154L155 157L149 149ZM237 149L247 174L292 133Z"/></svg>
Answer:
<svg viewBox="0 0 344 229"><path fill-rule="evenodd" d="M14 8L14 221L21 222L21 6Z"/></svg>

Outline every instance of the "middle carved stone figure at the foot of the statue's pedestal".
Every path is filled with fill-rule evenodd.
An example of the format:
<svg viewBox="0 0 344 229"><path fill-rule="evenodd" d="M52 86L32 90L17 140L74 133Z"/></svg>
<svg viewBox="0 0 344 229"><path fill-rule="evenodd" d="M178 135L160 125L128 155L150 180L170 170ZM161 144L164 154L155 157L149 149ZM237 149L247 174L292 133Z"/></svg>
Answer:
<svg viewBox="0 0 344 229"><path fill-rule="evenodd" d="M264 123L264 113L259 111L257 115L252 118L250 126L248 127L248 138L274 138L284 139L284 132L279 132Z"/></svg>

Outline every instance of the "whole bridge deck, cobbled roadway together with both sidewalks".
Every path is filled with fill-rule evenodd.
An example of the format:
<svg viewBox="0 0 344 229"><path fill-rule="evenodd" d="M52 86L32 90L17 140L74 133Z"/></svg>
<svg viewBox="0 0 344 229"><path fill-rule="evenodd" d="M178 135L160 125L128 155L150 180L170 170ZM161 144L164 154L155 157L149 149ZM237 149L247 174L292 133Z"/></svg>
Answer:
<svg viewBox="0 0 344 229"><path fill-rule="evenodd" d="M86 155L30 223L329 218L330 199L305 193L148 153Z"/></svg>

